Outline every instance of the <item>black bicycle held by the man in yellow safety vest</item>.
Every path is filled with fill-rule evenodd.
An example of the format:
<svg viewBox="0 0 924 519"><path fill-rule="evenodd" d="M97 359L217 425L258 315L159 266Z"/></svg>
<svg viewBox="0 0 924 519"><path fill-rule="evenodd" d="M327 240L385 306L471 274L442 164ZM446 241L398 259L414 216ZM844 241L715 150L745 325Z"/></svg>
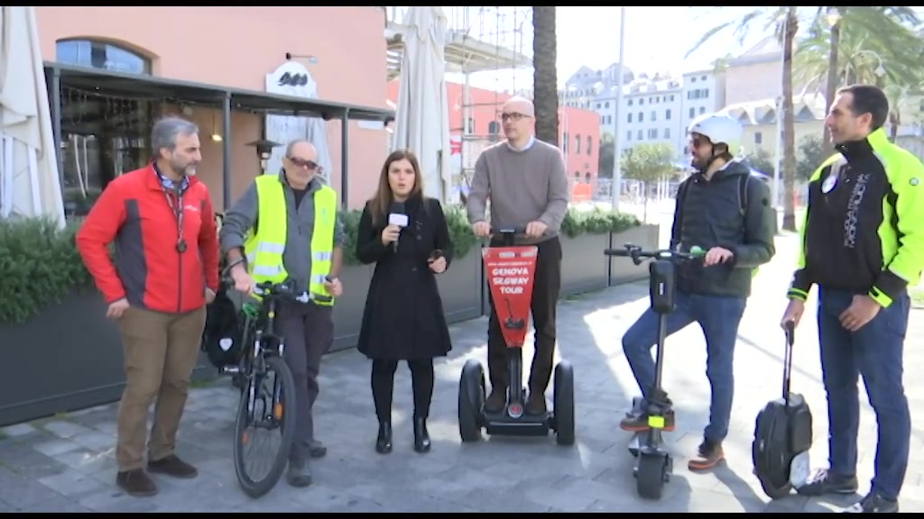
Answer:
<svg viewBox="0 0 924 519"><path fill-rule="evenodd" d="M225 279L225 284L233 285L233 282ZM261 296L261 303L245 302L241 308L244 318L241 344L244 344L244 350L237 366L222 368L222 373L234 377L241 395L235 420L237 481L245 494L258 498L274 489L279 482L295 440L296 420L286 416L289 409L296 409L295 379L283 358L286 348L284 337L275 330L276 308L282 299L307 301L309 296L297 294L286 283L257 284L253 293ZM269 387L264 382L270 382ZM251 440L252 435L248 432L251 426L270 431L278 428L281 432L279 449L262 478L253 477L245 464L244 450Z"/></svg>

